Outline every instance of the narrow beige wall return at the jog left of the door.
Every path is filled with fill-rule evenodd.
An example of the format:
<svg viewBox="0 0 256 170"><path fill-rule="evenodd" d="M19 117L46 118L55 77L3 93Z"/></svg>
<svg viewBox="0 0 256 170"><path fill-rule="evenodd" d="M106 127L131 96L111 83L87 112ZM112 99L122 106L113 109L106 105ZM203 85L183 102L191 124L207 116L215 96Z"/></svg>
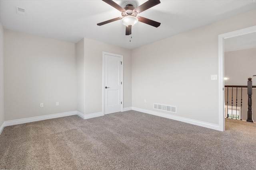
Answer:
<svg viewBox="0 0 256 170"><path fill-rule="evenodd" d="M84 97L84 39L76 43L77 111L85 114Z"/></svg>

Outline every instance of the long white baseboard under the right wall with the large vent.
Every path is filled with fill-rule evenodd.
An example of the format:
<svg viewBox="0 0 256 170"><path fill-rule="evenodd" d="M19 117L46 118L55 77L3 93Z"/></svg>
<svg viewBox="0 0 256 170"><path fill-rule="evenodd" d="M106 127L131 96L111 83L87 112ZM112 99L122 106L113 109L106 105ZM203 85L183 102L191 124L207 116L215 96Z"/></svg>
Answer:
<svg viewBox="0 0 256 170"><path fill-rule="evenodd" d="M138 107L132 107L132 110L140 111L140 112L143 112L143 113L148 113L148 114L156 115L156 116L160 116L160 117L165 117L165 118L173 119L173 120L177 120L177 121L182 121L182 122L185 122L185 123L190 123L192 125L198 125L198 126L206 127L206 128L209 128L209 129L214 129L214 130L220 131L220 126L216 125L216 124L212 124L212 123L206 123L206 122L197 121L197 120L193 120L193 119L188 119L188 118L184 118L184 117L179 117L179 116L175 116L175 115L169 115L169 114L166 114L166 113L160 113L160 112L156 112L156 111L140 109Z"/></svg>

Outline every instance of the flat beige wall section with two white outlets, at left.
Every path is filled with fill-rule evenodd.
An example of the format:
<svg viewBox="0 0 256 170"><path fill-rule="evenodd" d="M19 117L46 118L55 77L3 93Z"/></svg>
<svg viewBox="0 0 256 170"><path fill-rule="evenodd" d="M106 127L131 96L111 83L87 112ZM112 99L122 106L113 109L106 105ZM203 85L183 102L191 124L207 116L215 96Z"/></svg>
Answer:
<svg viewBox="0 0 256 170"><path fill-rule="evenodd" d="M4 37L5 121L76 111L75 44L7 29Z"/></svg>

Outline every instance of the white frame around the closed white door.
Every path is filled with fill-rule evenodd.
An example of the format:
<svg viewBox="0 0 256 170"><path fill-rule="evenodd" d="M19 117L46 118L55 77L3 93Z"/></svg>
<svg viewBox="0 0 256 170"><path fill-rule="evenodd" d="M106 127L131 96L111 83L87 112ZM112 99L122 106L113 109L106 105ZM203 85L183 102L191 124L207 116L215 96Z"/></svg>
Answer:
<svg viewBox="0 0 256 170"><path fill-rule="evenodd" d="M122 101L122 104L121 104L121 112L123 111L124 109L124 90L123 90L123 87L124 87L124 79L123 79L123 74L124 74L124 56L123 55L118 55L118 54L113 54L113 53L108 53L108 52L102 52L102 115L105 115L105 55L112 55L112 56L115 56L115 57L120 57L121 58L121 61L122 61L122 65L121 65L121 101Z"/></svg>

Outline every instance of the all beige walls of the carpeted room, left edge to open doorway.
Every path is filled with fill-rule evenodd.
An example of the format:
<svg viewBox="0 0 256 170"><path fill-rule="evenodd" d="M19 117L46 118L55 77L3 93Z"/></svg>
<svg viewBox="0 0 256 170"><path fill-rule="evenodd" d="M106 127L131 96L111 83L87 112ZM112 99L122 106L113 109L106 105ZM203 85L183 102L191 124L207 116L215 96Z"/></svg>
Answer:
<svg viewBox="0 0 256 170"><path fill-rule="evenodd" d="M218 35L256 25L255 16L256 10L133 50L5 30L4 119L102 112L104 51L124 56L124 108L166 104L177 106L168 114L218 124L218 80L210 80L218 74Z"/></svg>

